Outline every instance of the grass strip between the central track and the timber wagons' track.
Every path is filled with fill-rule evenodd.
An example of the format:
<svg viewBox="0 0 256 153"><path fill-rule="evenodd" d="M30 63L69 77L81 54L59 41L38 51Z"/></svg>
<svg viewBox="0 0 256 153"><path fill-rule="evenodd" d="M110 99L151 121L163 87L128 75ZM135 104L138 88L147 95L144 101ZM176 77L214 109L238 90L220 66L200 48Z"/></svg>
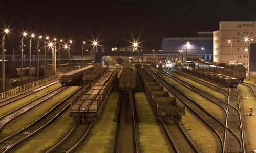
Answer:
<svg viewBox="0 0 256 153"><path fill-rule="evenodd" d="M89 137L78 148L78 152L113 152L117 126L117 102L119 92L112 92L106 102L99 122L93 127ZM90 150L90 151L89 151Z"/></svg>

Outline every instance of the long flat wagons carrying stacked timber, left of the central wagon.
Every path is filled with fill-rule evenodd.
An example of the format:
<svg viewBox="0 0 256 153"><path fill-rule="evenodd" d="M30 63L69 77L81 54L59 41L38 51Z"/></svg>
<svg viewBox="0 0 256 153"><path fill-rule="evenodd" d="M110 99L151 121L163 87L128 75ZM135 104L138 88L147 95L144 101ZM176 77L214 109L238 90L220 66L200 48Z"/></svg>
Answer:
<svg viewBox="0 0 256 153"><path fill-rule="evenodd" d="M100 116L109 97L117 70L108 70L91 89L71 108L70 116L76 122L87 122Z"/></svg>

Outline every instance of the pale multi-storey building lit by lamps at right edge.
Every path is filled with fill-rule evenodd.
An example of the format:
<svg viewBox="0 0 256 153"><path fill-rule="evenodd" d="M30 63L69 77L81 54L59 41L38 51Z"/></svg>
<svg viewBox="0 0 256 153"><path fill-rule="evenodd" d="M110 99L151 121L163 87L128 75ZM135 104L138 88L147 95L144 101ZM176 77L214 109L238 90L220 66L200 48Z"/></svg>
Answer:
<svg viewBox="0 0 256 153"><path fill-rule="evenodd" d="M214 31L214 61L248 67L248 47L256 40L256 21L221 21ZM251 39L254 39L251 41Z"/></svg>

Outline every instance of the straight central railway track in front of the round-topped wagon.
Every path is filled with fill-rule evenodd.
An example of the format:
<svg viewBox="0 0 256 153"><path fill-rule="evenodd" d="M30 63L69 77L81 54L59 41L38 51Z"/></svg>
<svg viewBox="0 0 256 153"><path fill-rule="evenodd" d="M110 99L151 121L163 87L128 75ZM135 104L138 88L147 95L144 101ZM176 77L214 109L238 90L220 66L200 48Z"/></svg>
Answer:
<svg viewBox="0 0 256 153"><path fill-rule="evenodd" d="M139 152L135 125L134 93L122 93L115 152Z"/></svg>

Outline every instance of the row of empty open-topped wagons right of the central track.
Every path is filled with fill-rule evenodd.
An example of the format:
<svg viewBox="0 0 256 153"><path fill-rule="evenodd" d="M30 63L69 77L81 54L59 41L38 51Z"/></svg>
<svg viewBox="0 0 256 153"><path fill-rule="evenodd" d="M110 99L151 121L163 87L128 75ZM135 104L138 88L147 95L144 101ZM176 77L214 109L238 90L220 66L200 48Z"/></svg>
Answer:
<svg viewBox="0 0 256 153"><path fill-rule="evenodd" d="M144 84L148 99L153 102L157 117L168 122L172 119L181 120L185 115L184 105L172 95L164 86L146 69L140 65L136 67L137 72Z"/></svg>

